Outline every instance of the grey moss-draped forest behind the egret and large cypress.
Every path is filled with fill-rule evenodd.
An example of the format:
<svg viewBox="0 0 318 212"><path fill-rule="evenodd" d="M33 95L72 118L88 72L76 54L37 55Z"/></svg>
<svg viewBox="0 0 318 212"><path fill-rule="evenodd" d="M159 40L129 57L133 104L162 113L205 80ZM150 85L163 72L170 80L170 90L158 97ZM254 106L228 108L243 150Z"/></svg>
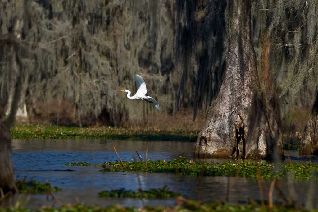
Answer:
<svg viewBox="0 0 318 212"><path fill-rule="evenodd" d="M23 98L18 104L27 119L17 123L199 131L225 69L224 2L194 1L193 16L200 25L192 32L199 35L199 42L189 45L192 53L185 67L176 46L184 42L180 36L188 38L191 31L178 29L184 23L173 0L1 1L2 42L21 44L18 49L1 46L1 117L10 116L20 84ZM304 70L294 67L298 58L305 61L299 56L305 51L304 39L316 40L317 23L311 17L318 7L314 1L252 2L259 78L279 105L276 119L284 142L297 142L315 100L312 75L317 70L310 72L312 63ZM267 14L268 8L284 17ZM206 41L208 45L203 45ZM211 51L205 51L206 46ZM303 55L315 63L315 56ZM217 62L203 62L210 60ZM148 94L159 102L162 113L118 92L136 91L134 74L144 77Z"/></svg>

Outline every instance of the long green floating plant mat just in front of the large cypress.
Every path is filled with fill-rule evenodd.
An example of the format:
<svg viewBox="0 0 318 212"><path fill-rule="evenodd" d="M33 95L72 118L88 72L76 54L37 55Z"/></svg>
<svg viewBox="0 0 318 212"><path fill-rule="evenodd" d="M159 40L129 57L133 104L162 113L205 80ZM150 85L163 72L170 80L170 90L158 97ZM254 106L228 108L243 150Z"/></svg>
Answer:
<svg viewBox="0 0 318 212"><path fill-rule="evenodd" d="M141 172L157 172L157 173L179 173L181 175L193 175L193 176L237 176L245 178L262 178L262 179L273 179L283 178L287 173L294 176L295 179L310 179L312 173L318 172L318 164L308 162L306 164L281 164L279 171L275 172L274 163L266 161L227 161L224 163L208 163L208 162L197 162L188 161L185 157L180 156L179 159L171 161L148 161L142 163L139 161L134 162L123 162L125 167L122 166L121 162L107 162L102 164L104 169L100 171L107 172L130 172L130 171L141 171ZM316 177L315 177L316 178Z"/></svg>

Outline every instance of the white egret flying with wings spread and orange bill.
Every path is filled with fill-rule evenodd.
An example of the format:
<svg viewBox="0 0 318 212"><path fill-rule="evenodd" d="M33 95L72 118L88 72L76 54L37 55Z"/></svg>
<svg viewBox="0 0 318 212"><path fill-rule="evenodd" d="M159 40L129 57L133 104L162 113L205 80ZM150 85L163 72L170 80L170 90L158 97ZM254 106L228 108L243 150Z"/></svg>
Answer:
<svg viewBox="0 0 318 212"><path fill-rule="evenodd" d="M130 96L130 91L125 89L125 90L120 90L121 92L127 92L127 98L128 99L141 99L141 100L145 100L149 103L152 103L155 105L156 109L161 111L160 110L160 106L158 104L158 102L152 98L151 96L146 96L146 93L147 93L147 87L146 87L146 83L145 81L143 80L143 78L141 76L139 76L138 74L135 74L135 81L137 82L138 84L138 90L136 92L135 95L133 96Z"/></svg>

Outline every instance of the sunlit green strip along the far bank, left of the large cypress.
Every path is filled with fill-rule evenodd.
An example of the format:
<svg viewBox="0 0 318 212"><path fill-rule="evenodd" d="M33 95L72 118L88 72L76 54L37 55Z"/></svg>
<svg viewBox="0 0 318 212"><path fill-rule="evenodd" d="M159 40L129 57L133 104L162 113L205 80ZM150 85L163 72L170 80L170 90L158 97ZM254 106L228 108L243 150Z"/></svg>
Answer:
<svg viewBox="0 0 318 212"><path fill-rule="evenodd" d="M162 131L159 129L133 129L113 127L63 127L17 125L11 128L15 139L117 139L117 140L167 140L196 141L198 131Z"/></svg>

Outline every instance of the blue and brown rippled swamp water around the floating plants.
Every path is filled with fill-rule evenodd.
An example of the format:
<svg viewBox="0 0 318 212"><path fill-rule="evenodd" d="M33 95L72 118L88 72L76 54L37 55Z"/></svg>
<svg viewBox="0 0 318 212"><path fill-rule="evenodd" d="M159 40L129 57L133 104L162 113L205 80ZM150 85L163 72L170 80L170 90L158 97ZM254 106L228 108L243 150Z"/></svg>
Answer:
<svg viewBox="0 0 318 212"><path fill-rule="evenodd" d="M39 206L59 206L60 204L86 203L107 206L121 204L123 206L142 207L176 205L175 199L140 200L98 197L103 190L125 188L128 190L161 188L167 185L173 191L190 199L203 201L225 201L228 181L230 180L229 201L233 203L259 199L258 180L228 177L195 177L166 173L139 172L99 172L100 166L64 166L66 162L87 162L90 164L118 160L112 142L126 161L137 159L135 151L145 159L148 145L148 159L172 160L180 155L186 159L194 159L193 142L176 141L128 141L128 140L12 140L13 164L17 180L37 180L49 182L52 186L62 188L54 193L55 199L46 194L20 194L14 201L25 203L26 208ZM296 151L286 151L293 162L306 162ZM211 160L211 159L210 159ZM224 162L226 159L213 160ZM286 161L285 161L286 162ZM284 183L284 181L283 181ZM309 181L295 181L298 201L305 203ZM264 181L264 198L268 197L270 181ZM284 187L284 185L283 185ZM315 181L315 187L317 182ZM275 196L275 192L274 192Z"/></svg>

